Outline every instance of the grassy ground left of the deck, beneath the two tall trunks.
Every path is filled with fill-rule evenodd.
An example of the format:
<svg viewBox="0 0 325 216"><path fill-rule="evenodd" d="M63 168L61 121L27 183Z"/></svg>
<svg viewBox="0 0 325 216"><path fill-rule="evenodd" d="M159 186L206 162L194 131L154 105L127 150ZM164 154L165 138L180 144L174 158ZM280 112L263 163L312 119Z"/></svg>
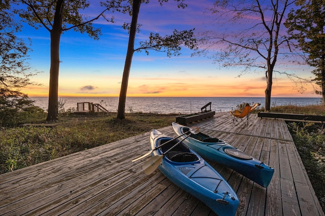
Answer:
<svg viewBox="0 0 325 216"><path fill-rule="evenodd" d="M23 126L0 131L0 174L169 126L175 115L133 113L61 114L55 127ZM33 123L41 120L34 119Z"/></svg>

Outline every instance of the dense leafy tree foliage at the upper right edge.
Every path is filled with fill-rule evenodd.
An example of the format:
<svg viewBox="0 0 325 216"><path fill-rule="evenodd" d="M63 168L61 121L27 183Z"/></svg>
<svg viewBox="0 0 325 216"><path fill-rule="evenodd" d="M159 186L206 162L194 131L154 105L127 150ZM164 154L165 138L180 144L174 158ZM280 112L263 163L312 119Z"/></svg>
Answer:
<svg viewBox="0 0 325 216"><path fill-rule="evenodd" d="M306 62L316 67L312 73L321 91L315 91L323 97L325 105L325 3L323 0L299 1L301 8L291 10L285 26L289 39L297 41L304 53Z"/></svg>

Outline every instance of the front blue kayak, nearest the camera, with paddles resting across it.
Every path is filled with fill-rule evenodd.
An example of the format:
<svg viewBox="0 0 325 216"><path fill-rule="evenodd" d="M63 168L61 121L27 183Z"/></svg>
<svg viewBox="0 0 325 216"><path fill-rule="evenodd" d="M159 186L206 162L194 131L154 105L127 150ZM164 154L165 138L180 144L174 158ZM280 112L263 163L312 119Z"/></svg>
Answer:
<svg viewBox="0 0 325 216"><path fill-rule="evenodd" d="M170 141L172 140L172 141ZM202 157L183 143L168 151L179 141L152 129L150 147L170 141L151 153L164 155L159 169L175 185L197 197L219 216L235 215L239 200L233 188ZM168 152L167 152L168 151ZM164 154L165 152L166 155Z"/></svg>

